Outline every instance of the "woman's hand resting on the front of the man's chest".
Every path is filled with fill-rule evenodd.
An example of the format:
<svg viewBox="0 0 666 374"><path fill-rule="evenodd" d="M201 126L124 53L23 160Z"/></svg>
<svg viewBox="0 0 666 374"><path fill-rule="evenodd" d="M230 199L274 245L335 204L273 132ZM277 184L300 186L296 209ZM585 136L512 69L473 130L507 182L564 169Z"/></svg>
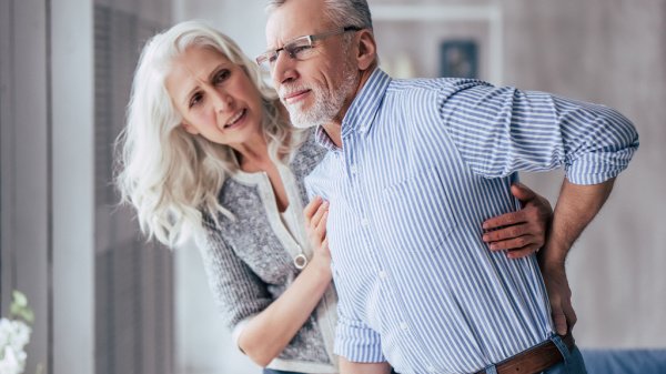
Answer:
<svg viewBox="0 0 666 374"><path fill-rule="evenodd" d="M303 210L307 239L313 247L311 262L323 261L323 265L331 266L331 251L326 239L326 220L329 218L329 202L315 196Z"/></svg>

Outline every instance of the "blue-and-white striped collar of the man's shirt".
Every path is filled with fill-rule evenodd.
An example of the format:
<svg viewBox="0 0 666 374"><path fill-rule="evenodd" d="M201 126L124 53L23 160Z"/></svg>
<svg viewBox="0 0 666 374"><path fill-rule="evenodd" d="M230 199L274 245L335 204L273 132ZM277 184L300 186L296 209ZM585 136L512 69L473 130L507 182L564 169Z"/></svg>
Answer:
<svg viewBox="0 0 666 374"><path fill-rule="evenodd" d="M391 77L382 71L382 69L375 68L365 84L361 88L361 91L352 101L350 109L342 120L342 139L349 137L353 132L367 133L391 80ZM329 134L326 134L323 127L316 128L315 139L320 145L330 151L339 150L331 138L329 138Z"/></svg>

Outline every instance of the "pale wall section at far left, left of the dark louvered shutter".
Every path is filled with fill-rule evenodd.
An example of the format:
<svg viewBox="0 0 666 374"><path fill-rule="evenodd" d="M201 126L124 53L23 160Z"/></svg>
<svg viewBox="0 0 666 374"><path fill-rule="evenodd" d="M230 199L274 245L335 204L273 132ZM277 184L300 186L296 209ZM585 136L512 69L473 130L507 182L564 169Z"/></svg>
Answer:
<svg viewBox="0 0 666 374"><path fill-rule="evenodd" d="M1 306L18 289L34 310L28 373L89 374L92 37L77 28L92 29L92 3L0 7Z"/></svg>

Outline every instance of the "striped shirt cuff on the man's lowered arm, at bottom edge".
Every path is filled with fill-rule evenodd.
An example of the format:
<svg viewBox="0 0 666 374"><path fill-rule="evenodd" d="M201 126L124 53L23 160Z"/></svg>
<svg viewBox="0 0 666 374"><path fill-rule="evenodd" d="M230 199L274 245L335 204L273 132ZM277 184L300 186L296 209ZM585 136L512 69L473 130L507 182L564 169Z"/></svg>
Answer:
<svg viewBox="0 0 666 374"><path fill-rule="evenodd" d="M334 353L350 362L385 362L380 334L360 321L339 317Z"/></svg>

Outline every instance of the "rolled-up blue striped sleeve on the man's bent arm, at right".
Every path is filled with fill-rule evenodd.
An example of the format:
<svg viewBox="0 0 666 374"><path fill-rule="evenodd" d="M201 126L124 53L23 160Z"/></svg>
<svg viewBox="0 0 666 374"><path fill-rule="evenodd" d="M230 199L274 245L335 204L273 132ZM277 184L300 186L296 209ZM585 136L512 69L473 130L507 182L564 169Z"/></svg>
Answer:
<svg viewBox="0 0 666 374"><path fill-rule="evenodd" d="M633 123L599 104L468 81L438 100L461 155L487 178L563 168L572 183L597 184L625 170L638 149Z"/></svg>

